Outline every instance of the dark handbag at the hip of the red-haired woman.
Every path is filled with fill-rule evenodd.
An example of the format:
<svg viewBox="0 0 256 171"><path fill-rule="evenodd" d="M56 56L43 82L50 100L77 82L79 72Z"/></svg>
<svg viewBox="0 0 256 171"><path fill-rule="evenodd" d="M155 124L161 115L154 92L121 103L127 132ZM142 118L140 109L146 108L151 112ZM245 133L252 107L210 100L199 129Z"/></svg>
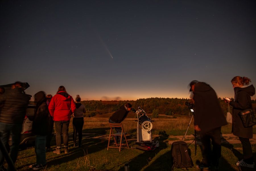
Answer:
<svg viewBox="0 0 256 171"><path fill-rule="evenodd" d="M245 109L238 113L245 128L256 125L256 117L252 109Z"/></svg>

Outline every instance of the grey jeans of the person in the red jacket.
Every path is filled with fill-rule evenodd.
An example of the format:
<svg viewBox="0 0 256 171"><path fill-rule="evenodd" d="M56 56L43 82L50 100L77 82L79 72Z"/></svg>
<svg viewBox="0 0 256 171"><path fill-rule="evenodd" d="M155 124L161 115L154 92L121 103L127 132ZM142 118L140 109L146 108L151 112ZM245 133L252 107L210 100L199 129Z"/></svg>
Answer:
<svg viewBox="0 0 256 171"><path fill-rule="evenodd" d="M61 134L63 135L64 148L69 146L69 121L54 121L56 131L56 146L61 148Z"/></svg>

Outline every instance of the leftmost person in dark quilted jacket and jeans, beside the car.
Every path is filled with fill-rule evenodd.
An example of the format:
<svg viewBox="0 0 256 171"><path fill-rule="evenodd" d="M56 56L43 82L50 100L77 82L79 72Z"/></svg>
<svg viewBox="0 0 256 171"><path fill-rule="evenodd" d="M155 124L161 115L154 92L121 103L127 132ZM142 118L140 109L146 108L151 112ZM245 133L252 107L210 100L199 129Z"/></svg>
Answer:
<svg viewBox="0 0 256 171"><path fill-rule="evenodd" d="M6 89L5 93L0 96L0 104L3 104L0 114L0 138L3 144L7 146L11 135L10 157L14 164L19 150L22 123L31 98L30 95L23 93L23 91L22 83L15 82L11 89ZM3 166L3 161L3 153L0 150L0 169L6 170ZM10 170L10 166L7 169Z"/></svg>

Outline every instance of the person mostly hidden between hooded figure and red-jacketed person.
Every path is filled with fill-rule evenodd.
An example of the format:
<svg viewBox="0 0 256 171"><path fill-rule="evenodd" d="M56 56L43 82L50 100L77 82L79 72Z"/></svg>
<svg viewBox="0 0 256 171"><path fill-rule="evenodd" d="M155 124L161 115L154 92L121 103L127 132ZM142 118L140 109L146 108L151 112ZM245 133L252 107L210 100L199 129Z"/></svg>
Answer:
<svg viewBox="0 0 256 171"><path fill-rule="evenodd" d="M51 101L52 95L48 94L46 95L46 103L49 106L50 101ZM46 151L51 151L51 139L52 139L52 130L53 130L53 124L54 121L52 119L52 116L49 113L48 117L48 127L47 127L47 135L46 135Z"/></svg>

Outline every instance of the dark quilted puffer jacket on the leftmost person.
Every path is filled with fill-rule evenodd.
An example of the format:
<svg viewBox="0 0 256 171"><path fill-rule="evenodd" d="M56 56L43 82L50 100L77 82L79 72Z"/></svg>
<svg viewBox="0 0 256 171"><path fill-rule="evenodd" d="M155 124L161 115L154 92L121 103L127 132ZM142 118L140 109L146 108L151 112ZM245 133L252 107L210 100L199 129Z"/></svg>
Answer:
<svg viewBox="0 0 256 171"><path fill-rule="evenodd" d="M23 123L30 96L22 91L23 88L7 89L0 96L0 103L3 103L0 122Z"/></svg>

